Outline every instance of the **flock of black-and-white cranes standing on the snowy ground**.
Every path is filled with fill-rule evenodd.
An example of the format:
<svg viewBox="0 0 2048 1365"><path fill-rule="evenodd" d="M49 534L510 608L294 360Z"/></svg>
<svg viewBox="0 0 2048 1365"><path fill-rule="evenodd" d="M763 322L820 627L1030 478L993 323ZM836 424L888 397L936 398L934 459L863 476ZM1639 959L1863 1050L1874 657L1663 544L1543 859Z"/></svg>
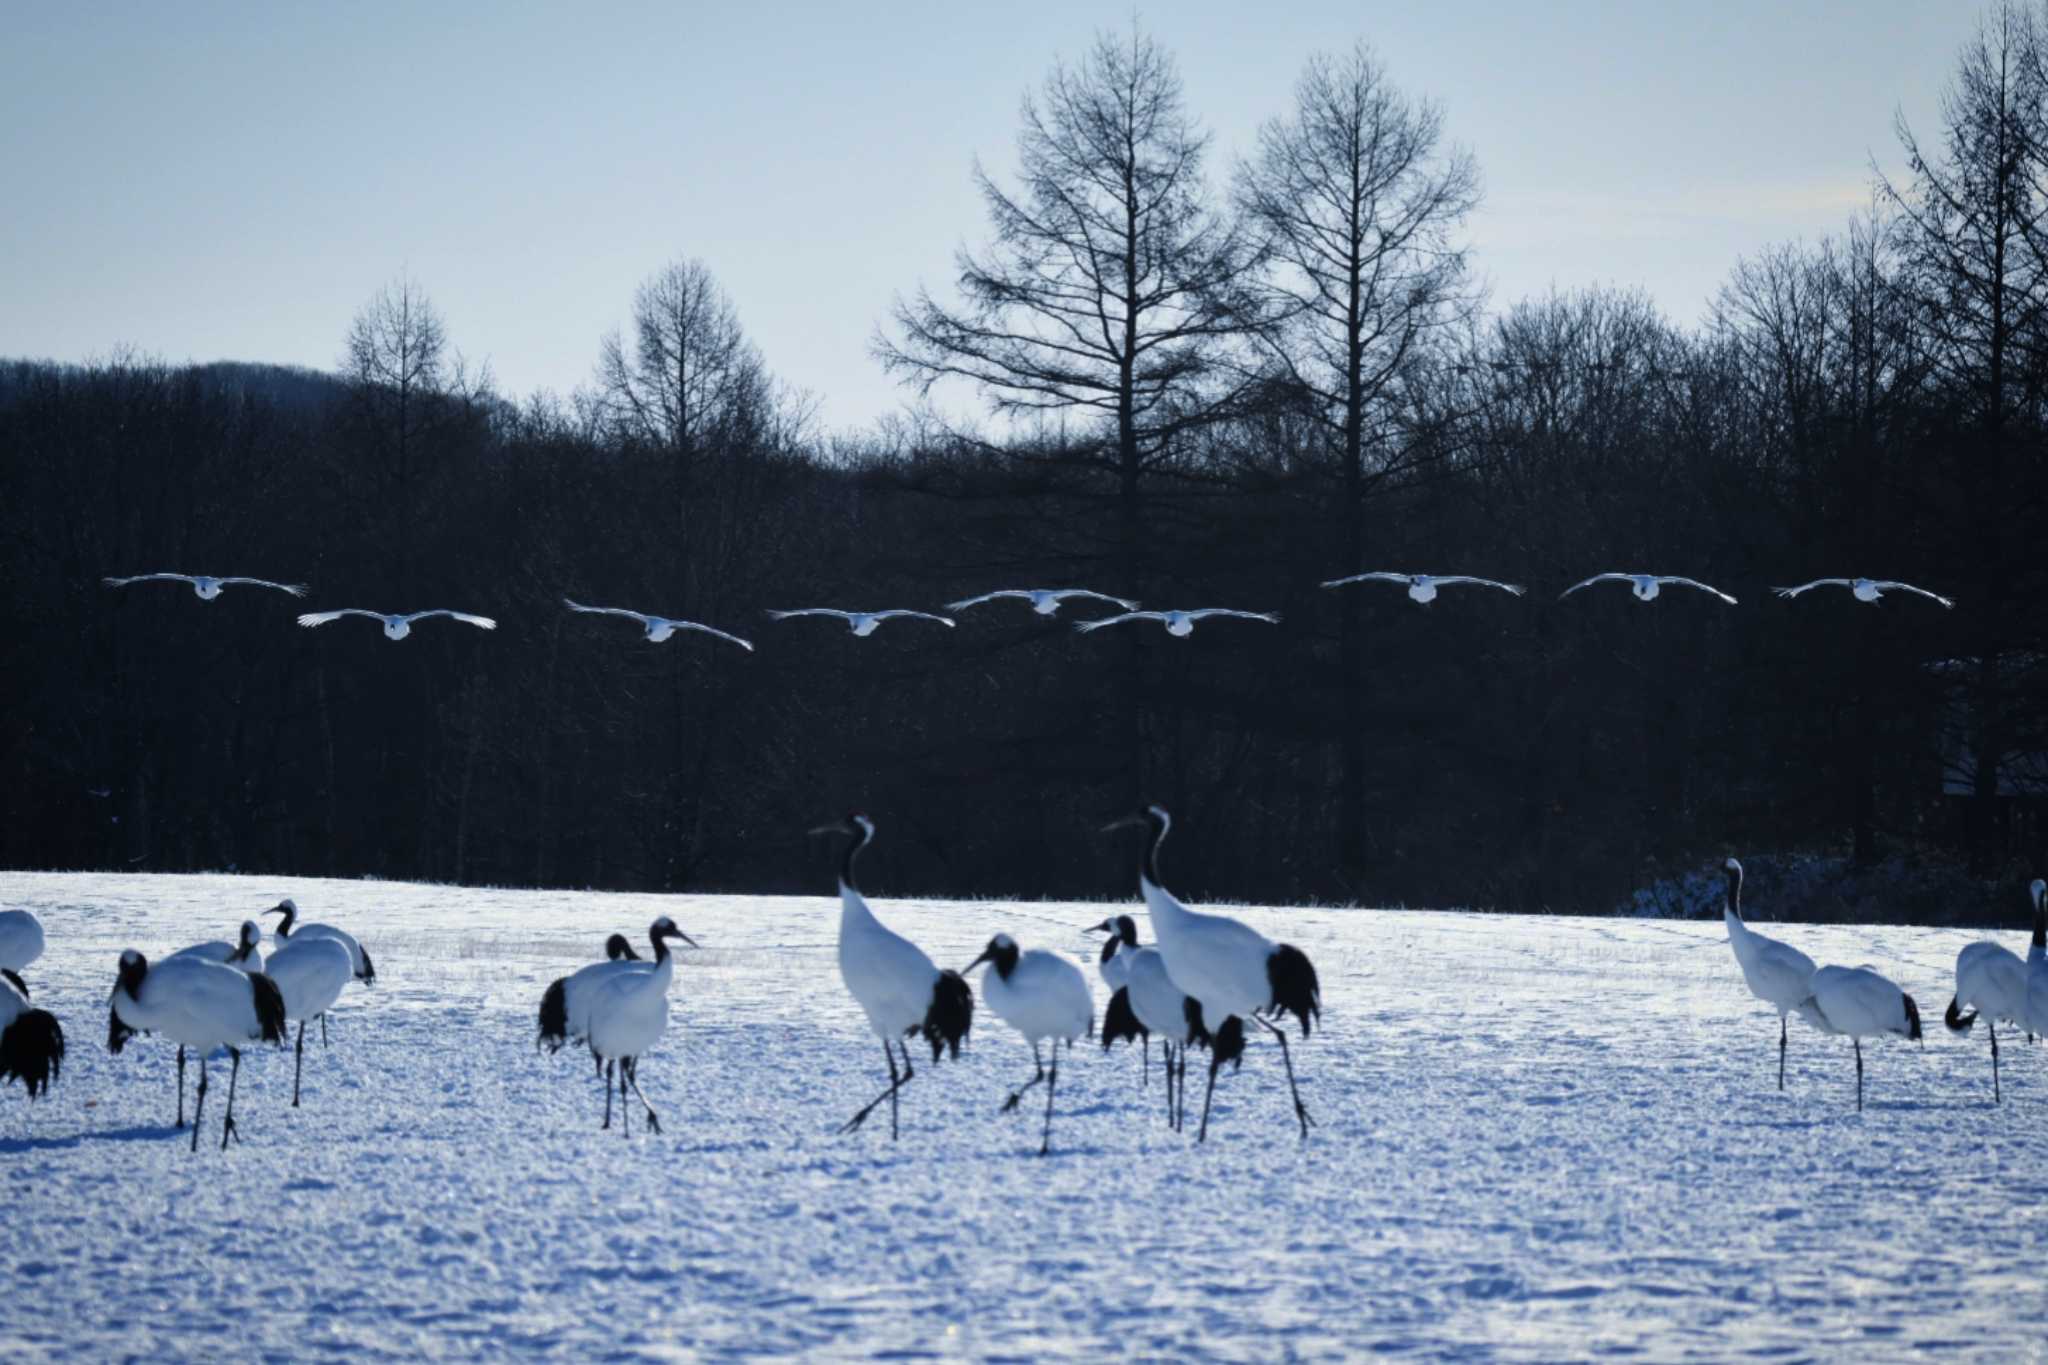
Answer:
<svg viewBox="0 0 2048 1365"><path fill-rule="evenodd" d="M1151 1078L1151 1038L1157 1036L1165 1068L1165 1117L1174 1132L1186 1126L1188 1050L1208 1052L1208 1083L1202 1093L1202 1121L1196 1142L1208 1138L1210 1101L1217 1074L1243 1064L1245 1040L1260 1029L1280 1046L1288 1097L1300 1138L1315 1119L1294 1078L1286 1019L1300 1023L1307 1040L1323 1013L1323 988L1315 964L1292 943L1276 943L1239 919L1192 911L1169 892L1159 876L1159 847L1174 821L1161 806L1116 821L1108 829L1141 827L1139 896L1151 921L1155 943L1139 941L1130 915L1112 915L1090 931L1106 933L1098 960L1110 1001L1096 1027L1094 990L1087 976L1063 954L1022 948L1008 933L995 933L965 968L948 970L889 929L868 907L854 882L854 862L874 839L874 821L850 814L846 821L813 829L813 835L846 839L840 855L840 980L860 1007L883 1046L889 1085L854 1111L840 1134L858 1130L883 1103L889 1105L889 1136L899 1134L903 1089L918 1068L909 1040L932 1048L932 1066L948 1052L958 1058L975 1023L975 993L967 976L987 966L981 1001L1008 1023L1032 1052L1032 1074L1010 1091L1004 1113L1016 1111L1024 1095L1044 1085L1044 1126L1038 1154L1053 1148L1053 1103L1059 1089L1059 1046L1100 1033L1104 1052L1118 1042L1143 1048ZM1868 966L1815 966L1790 943L1765 937L1743 919L1743 864L1724 868L1722 921L1729 948L1751 995L1778 1011L1778 1089L1786 1085L1790 1015L1815 1029L1849 1038L1855 1054L1855 1107L1864 1107L1864 1040L1896 1033L1921 1040L1919 1005L1892 980ZM1991 1093L2003 1103L1999 1078L1999 1023L2019 1027L2032 1040L2048 1033L2048 882L2028 888L2034 937L2025 960L1993 941L1976 941L1956 956L1956 993L1944 1015L1956 1033L1968 1033L1978 1019L1991 1033ZM225 1048L227 1113L221 1148L236 1140L236 1081L242 1050L279 1044L297 1023L291 1105L299 1107L299 1078L305 1066L305 1025L319 1021L328 1038L328 1011L350 982L375 984L377 968L354 935L324 923L299 923L293 900L264 911L281 915L272 952L262 954L262 929L244 921L233 943L209 941L150 962L133 948L121 954L109 995L109 1052L121 1052L135 1033L162 1033L178 1054L178 1117L184 1126L186 1050L199 1054L199 1093L193 1109L193 1150L207 1103L207 1058ZM614 933L602 962L592 962L557 978L541 995L539 1046L559 1052L582 1044L604 1085L604 1121L612 1126L616 1089L618 1128L631 1136L631 1095L645 1111L645 1128L662 1132L662 1119L639 1087L639 1060L668 1033L668 995L674 980L674 943L696 948L668 915L647 929L651 958L635 954L631 941ZM20 1081L29 1097L45 1093L63 1062L63 1029L55 1015L29 1003L20 972L43 954L43 925L29 911L0 913L0 1083ZM901 1064L899 1064L901 1060Z"/></svg>

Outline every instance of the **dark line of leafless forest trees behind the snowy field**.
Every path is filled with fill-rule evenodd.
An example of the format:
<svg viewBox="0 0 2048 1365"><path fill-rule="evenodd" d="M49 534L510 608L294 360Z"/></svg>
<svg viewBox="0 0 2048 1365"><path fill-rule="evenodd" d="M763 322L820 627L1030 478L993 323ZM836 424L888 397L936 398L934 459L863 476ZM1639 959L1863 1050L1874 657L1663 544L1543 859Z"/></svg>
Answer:
<svg viewBox="0 0 2048 1365"><path fill-rule="evenodd" d="M1481 170L1368 47L1221 164L1133 31L977 170L985 237L877 327L911 401L870 430L819 430L688 258L567 397L498 393L412 278L336 372L0 366L0 862L815 890L803 831L864 808L879 888L1092 896L1130 880L1096 827L1161 800L1208 896L1604 909L1731 847L2015 878L2048 851L2044 18L1991 10L1907 174L1698 325L1493 307ZM504 628L100 585L152 569ZM1317 587L1366 569L1532 591ZM1743 604L1554 600L1602 569ZM1958 606L1767 593L1841 573ZM762 618L1040 585L1284 620Z"/></svg>

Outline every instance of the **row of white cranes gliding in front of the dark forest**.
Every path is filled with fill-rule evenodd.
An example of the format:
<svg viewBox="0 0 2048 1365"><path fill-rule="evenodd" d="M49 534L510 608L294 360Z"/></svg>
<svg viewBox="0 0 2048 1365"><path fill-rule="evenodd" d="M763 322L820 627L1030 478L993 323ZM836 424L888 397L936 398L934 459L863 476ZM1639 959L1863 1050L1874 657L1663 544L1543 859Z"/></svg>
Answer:
<svg viewBox="0 0 2048 1365"><path fill-rule="evenodd" d="M190 583L193 591L203 602L213 602L215 598L221 596L223 587L233 587L233 585L270 587L270 589L276 589L276 591L291 593L293 598L303 598L309 591L303 583L274 583L270 579L252 579L252 577L209 577L209 575L203 575L203 573L199 573L199 575L195 575L195 573L137 573L137 575L131 575L131 577L106 577L102 581L109 587L127 587L131 583L158 583L158 581L164 581L164 583ZM1497 589L1497 591L1513 593L1516 598L1520 598L1520 596L1524 596L1528 591L1520 583L1501 583L1497 579L1481 579L1481 577L1473 577L1468 573L1393 573L1393 571L1352 573L1352 575L1341 577L1341 579L1327 579L1323 583L1323 587L1350 587L1354 583L1399 583L1399 585L1403 585L1407 589L1409 600L1417 602L1421 606L1427 606L1427 604L1436 602L1438 591L1444 589L1444 587L1460 587L1460 585L1491 587L1491 589ZM1657 596L1665 587L1690 587L1694 591L1708 593L1710 598L1718 598L1720 602L1724 602L1729 606L1735 606L1735 598L1733 596L1720 591L1718 587L1714 587L1710 583L1702 583L1700 579L1690 579L1690 577L1683 577L1683 575L1677 575L1677 573L1595 573L1593 577L1589 577L1589 579L1585 579L1581 583L1573 583L1571 587L1567 587L1565 591L1561 591L1559 600L1563 602L1565 598L1573 596L1575 591L1581 591L1585 587L1593 587L1595 583L1628 583L1630 591L1636 596L1638 602L1655 602ZM1815 579L1810 583L1800 583L1798 587L1774 587L1772 591L1776 591L1780 598L1798 598L1800 593L1812 591L1815 587L1847 587L1849 593L1858 602L1878 602L1888 591L1903 591L1903 593L1913 593L1913 596L1919 596L1919 598L1927 598L1929 602L1937 602L1937 604L1942 604L1946 608L1956 606L1954 600L1944 598L1942 593L1927 591L1925 587L1915 587L1913 583L1901 583L1896 579ZM1178 639L1186 639L1186 636L1194 634L1196 622L1208 620L1208 618L1260 620L1260 622L1266 622L1270 626L1278 626L1280 624L1280 614L1278 612L1245 612L1245 610L1229 608L1229 606L1176 608L1176 610L1147 612L1147 610L1139 610L1139 604L1133 602L1130 598L1116 598L1116 596L1110 596L1110 593L1100 593L1100 591L1094 591L1092 587L1004 587L1004 589L997 589L997 591L981 593L979 598L961 598L958 602L948 602L946 610L948 612L965 612L969 608L977 608L977 606L983 606L987 602L1028 602L1030 610L1034 614L1038 614L1038 616L1057 616L1059 608L1063 604L1067 604L1067 602L1073 602L1073 600L1100 602L1100 604L1106 604L1106 606L1122 608L1114 616L1102 616L1098 620L1077 622L1075 630L1081 630L1083 634L1087 634L1092 630L1102 630L1104 626L1122 626L1122 624L1128 624L1128 622L1135 622L1135 620L1155 620L1155 622L1159 622L1165 628L1167 634L1178 636ZM678 630L696 630L698 634L709 634L713 639L725 641L727 645L737 645L739 649L745 649L750 653L754 649L752 641L743 641L737 634L729 634L725 630L719 630L717 626L707 626L707 624L696 622L696 620L682 620L682 618L676 618L676 616L655 616L651 612L635 612L635 610L629 610L629 608L623 608L623 606L584 606L580 602L569 602L567 598L563 598L563 606L567 606L571 612L584 612L584 614L590 614L590 616L623 616L627 620L635 620L635 622L641 624L643 639L647 639L647 643L651 643L651 645L659 645L659 643L668 641ZM330 612L305 612L303 616L299 616L299 624L301 626L326 626L326 624L336 622L336 620L340 620L344 616L362 616L365 620L381 622L385 639L389 639L389 641L403 641L408 634L412 634L412 626L416 622L432 620L436 616L446 616L449 620L459 620L463 624L477 626L479 630L496 630L498 628L498 620L496 618L492 618L492 616L477 616L475 612L455 612L455 610L449 610L449 608L432 608L432 610L426 610L426 612L371 612L371 610L365 610L365 608L358 608L358 606L344 606L344 608L336 608L336 610L330 610ZM793 620L793 618L799 618L799 616L829 616L834 620L844 620L846 626L848 626L848 630L852 630L860 639L866 639L866 636L874 634L874 630L883 622L887 622L887 620L930 620L930 622L936 622L936 624L946 626L946 628L954 626L952 616L940 616L938 612L920 612L920 610L909 610L909 608L889 608L889 610L879 610L879 612L850 612L850 610L834 608L834 606L803 606L803 608L793 608L793 610L770 610L768 612L770 620Z"/></svg>

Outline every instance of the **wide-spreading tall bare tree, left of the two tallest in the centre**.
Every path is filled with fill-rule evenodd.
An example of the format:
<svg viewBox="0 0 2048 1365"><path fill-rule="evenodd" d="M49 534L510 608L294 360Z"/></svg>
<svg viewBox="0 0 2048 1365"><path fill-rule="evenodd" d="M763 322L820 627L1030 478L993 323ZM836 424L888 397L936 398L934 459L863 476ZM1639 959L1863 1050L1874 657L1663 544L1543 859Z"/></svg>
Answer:
<svg viewBox="0 0 2048 1365"><path fill-rule="evenodd" d="M1102 438L1063 458L1114 473L1133 577L1141 479L1221 411L1219 346L1249 303L1245 244L1204 192L1206 149L1171 55L1137 31L1100 35L1024 98L1018 190L975 168L995 239L958 256L965 305L920 291L897 303L901 338L874 344L924 395L965 379L1001 417L1090 420Z"/></svg>

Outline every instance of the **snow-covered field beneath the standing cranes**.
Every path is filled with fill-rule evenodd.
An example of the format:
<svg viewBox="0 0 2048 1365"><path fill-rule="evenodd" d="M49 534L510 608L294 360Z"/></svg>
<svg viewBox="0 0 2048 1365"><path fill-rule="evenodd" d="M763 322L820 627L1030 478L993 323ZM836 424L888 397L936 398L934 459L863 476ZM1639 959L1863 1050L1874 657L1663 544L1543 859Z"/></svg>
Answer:
<svg viewBox="0 0 2048 1365"><path fill-rule="evenodd" d="M104 1050L115 958L285 894L379 982L307 1052L303 1109L268 1052L242 1144L215 1146L217 1085L188 1154L170 1046ZM1858 1115L1847 1042L1798 1023L1774 1089L1778 1021L1718 923L1245 911L1321 970L1294 1052L1321 1128L1296 1140L1270 1042L1204 1148L1090 1046L1040 1160L1030 1103L997 1115L1028 1050L987 1011L961 1064L920 1062L901 1142L887 1113L834 1136L883 1058L825 898L0 874L0 905L43 917L27 976L70 1038L49 1099L0 1091L4 1359L2048 1351L2048 1048L2011 1042L1995 1109L1982 1031L1939 1027L1960 931L1780 929L1931 1025L1866 1048ZM1102 919L874 907L954 966L995 929L1087 956ZM625 1140L588 1056L535 1054L535 1007L659 913L702 952L641 1066L666 1134Z"/></svg>

